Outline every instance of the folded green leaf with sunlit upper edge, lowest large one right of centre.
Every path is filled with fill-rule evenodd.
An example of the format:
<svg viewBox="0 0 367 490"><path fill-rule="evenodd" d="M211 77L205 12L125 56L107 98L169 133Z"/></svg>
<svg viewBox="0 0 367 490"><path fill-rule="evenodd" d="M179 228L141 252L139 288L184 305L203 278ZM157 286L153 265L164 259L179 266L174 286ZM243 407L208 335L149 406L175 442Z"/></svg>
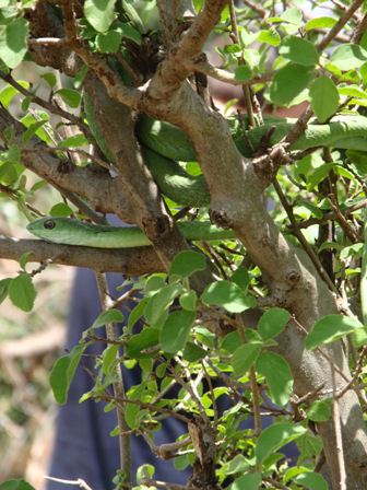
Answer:
<svg viewBox="0 0 367 490"><path fill-rule="evenodd" d="M303 425L295 423L282 422L274 423L264 429L254 447L254 455L259 463L262 463L272 453L288 444L307 432Z"/></svg>

